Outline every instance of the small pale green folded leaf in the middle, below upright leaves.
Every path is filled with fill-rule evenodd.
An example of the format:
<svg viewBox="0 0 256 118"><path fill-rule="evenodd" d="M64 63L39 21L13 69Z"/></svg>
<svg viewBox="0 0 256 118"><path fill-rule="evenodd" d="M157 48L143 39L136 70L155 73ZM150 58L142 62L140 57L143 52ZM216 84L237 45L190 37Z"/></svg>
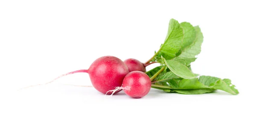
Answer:
<svg viewBox="0 0 256 118"><path fill-rule="evenodd" d="M195 75L189 70L189 68L175 60L164 59L166 66L175 74L184 79L193 79Z"/></svg>

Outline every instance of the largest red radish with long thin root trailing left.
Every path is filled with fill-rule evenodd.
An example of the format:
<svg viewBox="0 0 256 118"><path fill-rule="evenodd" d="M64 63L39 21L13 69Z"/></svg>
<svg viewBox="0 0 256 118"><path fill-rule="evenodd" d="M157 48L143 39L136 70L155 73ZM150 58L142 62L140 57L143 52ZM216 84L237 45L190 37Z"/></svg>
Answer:
<svg viewBox="0 0 256 118"><path fill-rule="evenodd" d="M93 87L104 94L111 94L109 90L114 89L116 86L122 86L122 81L125 78L125 75L129 73L128 67L125 63L119 58L113 56L103 56L96 59L89 69L77 70L74 72L69 72L67 74L61 75L58 78L61 78L65 75L70 75L77 72L86 72L90 76L90 81L93 84ZM51 83L56 79L48 82ZM45 83L45 84L48 84ZM41 84L38 84L41 85ZM35 86L38 86L35 85ZM28 86L31 87L31 86ZM26 88L28 88L26 87ZM121 90L119 90L121 91ZM119 92L115 91L113 94ZM108 93L107 93L108 92Z"/></svg>

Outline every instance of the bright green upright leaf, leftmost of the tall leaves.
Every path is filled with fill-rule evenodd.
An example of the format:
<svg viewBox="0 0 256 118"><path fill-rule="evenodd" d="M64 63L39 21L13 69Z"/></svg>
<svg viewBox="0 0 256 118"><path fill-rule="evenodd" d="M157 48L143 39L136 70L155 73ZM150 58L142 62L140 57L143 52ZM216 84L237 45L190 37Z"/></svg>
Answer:
<svg viewBox="0 0 256 118"><path fill-rule="evenodd" d="M161 60L160 56L166 59L172 59L180 50L184 38L183 28L177 20L171 19L164 43L158 52L154 55L157 60Z"/></svg>

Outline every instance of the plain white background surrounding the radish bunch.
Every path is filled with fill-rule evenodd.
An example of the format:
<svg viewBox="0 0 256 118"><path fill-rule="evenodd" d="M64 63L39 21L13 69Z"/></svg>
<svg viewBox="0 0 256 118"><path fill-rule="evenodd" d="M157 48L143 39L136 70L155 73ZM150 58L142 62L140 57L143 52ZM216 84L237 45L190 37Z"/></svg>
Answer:
<svg viewBox="0 0 256 118"><path fill-rule="evenodd" d="M255 118L255 3L184 0L1 0L1 115L16 118ZM204 35L193 72L230 78L239 95L182 95L151 89L144 98L112 98L92 87L87 69L113 55L142 62L166 37L171 18L199 25ZM148 70L154 65L148 66ZM7 118L7 116L1 117Z"/></svg>

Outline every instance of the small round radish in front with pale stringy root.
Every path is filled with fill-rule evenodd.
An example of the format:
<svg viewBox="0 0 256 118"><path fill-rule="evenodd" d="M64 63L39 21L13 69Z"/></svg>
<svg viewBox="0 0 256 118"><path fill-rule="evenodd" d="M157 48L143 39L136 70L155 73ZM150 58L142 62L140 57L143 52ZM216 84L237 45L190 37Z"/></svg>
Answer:
<svg viewBox="0 0 256 118"><path fill-rule="evenodd" d="M113 93L123 89L125 94L132 98L142 98L148 94L150 88L151 81L148 75L141 71L133 71L125 76L121 87L108 92Z"/></svg>

